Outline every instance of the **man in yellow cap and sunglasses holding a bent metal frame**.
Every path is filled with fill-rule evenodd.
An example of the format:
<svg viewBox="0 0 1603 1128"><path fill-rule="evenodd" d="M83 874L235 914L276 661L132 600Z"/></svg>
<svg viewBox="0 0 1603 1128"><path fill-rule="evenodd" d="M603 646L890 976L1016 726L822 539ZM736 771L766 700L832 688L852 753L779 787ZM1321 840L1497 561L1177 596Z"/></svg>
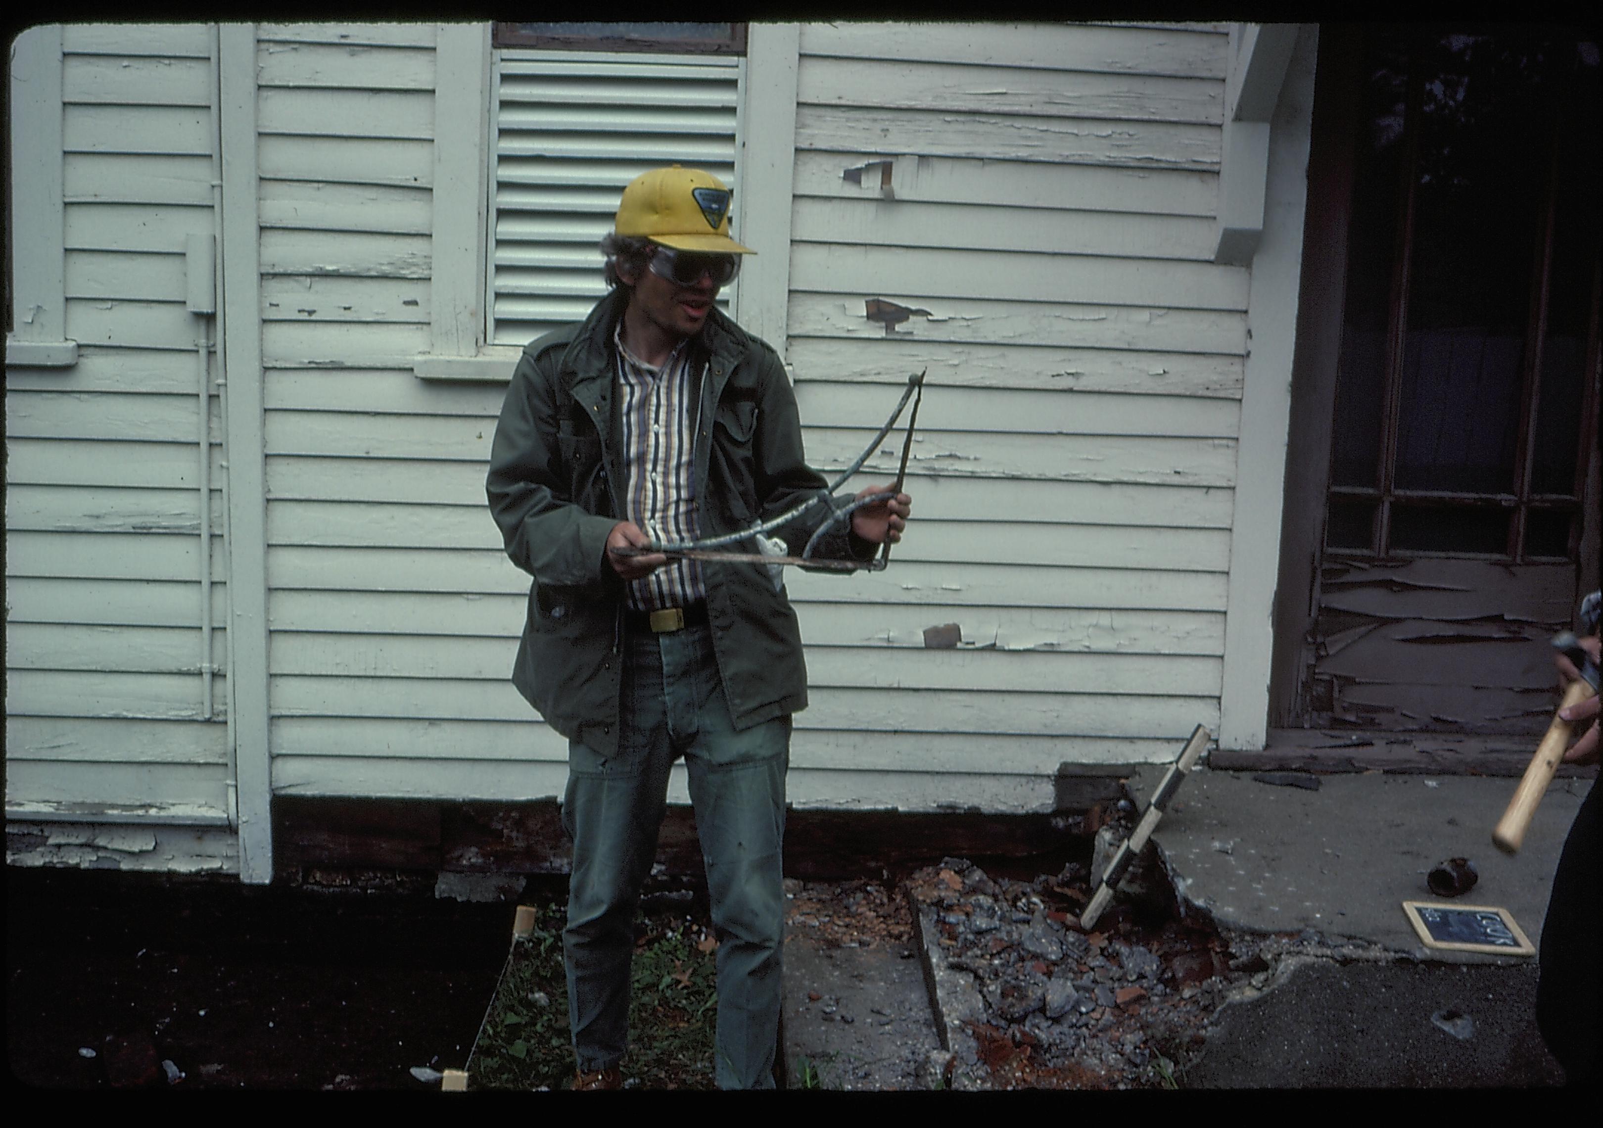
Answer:
<svg viewBox="0 0 1603 1128"><path fill-rule="evenodd" d="M797 617L765 566L643 551L750 529L826 487L779 357L713 306L755 253L729 237L729 203L678 165L624 189L601 244L612 292L523 351L491 449L491 511L534 575L513 683L569 740L580 1090L622 1085L633 916L681 755L718 936L717 1082L773 1085L784 784L806 705ZM911 505L856 511L814 556L872 559ZM798 553L827 516L816 505L774 535Z"/></svg>

